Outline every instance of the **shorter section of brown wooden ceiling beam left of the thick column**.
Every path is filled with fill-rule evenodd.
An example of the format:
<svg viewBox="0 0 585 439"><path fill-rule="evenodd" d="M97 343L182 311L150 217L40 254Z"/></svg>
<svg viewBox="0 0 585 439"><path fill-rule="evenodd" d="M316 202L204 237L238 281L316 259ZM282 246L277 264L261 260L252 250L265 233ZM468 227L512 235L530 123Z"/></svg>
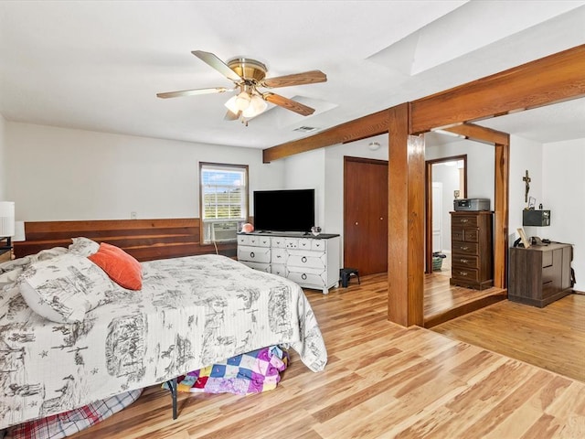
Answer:
<svg viewBox="0 0 585 439"><path fill-rule="evenodd" d="M374 135L388 133L388 113L388 110L383 110L368 114L359 119L324 130L321 133L264 149L262 151L262 161L270 163L279 158L312 151L324 146L346 144Z"/></svg>

